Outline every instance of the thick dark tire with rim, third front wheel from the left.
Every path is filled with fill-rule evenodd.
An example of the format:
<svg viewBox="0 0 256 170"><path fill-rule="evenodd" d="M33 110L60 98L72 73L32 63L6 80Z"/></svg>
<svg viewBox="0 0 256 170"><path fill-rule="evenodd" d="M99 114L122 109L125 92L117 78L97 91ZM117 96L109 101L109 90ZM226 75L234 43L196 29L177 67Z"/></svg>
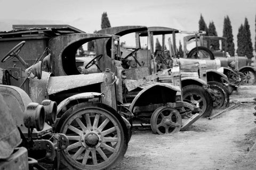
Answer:
<svg viewBox="0 0 256 170"><path fill-rule="evenodd" d="M209 117L213 109L213 101L209 92L207 92L202 86L188 85L183 89L183 99L191 102L199 102L199 115L201 117Z"/></svg>

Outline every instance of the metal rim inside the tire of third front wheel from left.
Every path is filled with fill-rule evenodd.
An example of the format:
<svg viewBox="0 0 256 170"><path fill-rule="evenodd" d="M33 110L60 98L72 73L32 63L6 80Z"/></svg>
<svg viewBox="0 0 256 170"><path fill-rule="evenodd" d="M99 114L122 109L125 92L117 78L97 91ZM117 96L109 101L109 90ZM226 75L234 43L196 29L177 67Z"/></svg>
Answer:
<svg viewBox="0 0 256 170"><path fill-rule="evenodd" d="M192 103L199 103L199 115L202 116L207 108L206 99L199 93L190 92L183 96L184 99L191 101Z"/></svg>

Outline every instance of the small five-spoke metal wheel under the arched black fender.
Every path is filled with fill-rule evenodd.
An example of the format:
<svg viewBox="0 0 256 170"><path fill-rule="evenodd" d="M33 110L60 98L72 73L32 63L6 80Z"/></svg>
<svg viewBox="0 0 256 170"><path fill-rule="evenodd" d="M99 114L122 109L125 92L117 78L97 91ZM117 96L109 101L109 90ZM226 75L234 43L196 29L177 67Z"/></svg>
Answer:
<svg viewBox="0 0 256 170"><path fill-rule="evenodd" d="M171 107L159 107L151 115L150 125L154 133L162 135L179 132L181 121L178 110Z"/></svg>

